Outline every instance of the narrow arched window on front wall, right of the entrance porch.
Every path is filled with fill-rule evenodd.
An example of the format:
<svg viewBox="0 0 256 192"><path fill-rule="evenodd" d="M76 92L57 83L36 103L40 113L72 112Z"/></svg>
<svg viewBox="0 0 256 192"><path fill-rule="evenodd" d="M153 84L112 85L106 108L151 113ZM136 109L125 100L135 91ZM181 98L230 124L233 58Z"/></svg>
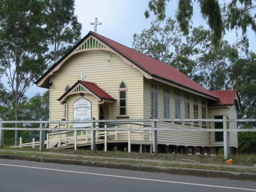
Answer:
<svg viewBox="0 0 256 192"><path fill-rule="evenodd" d="M119 84L119 115L127 115L127 85L124 81Z"/></svg>

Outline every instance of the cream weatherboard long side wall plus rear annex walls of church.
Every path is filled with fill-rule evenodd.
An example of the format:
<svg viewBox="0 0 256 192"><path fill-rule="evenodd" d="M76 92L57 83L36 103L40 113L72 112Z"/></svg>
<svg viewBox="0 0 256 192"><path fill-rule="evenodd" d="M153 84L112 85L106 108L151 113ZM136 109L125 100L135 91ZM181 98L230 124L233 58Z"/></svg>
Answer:
<svg viewBox="0 0 256 192"><path fill-rule="evenodd" d="M151 84L153 81L144 78L144 118L151 117ZM163 92L164 89L169 90L170 96L170 118L175 118L175 91L180 93L180 118L185 119L185 95L189 96L189 116L191 119L194 118L193 111L193 97L195 95L186 93L183 90L175 89L174 87L162 84L160 82L154 82L157 85L158 93L158 118L164 118L164 104L163 104ZM202 97L198 96L198 118L202 118ZM236 119L236 107L235 105L230 105L229 107L221 108L209 108L208 100L206 101L206 119L214 119L214 116L227 115L230 119ZM195 128L194 123L167 123L167 122L157 122L158 127L185 127L185 128ZM202 122L198 123L199 127L202 127ZM203 126L205 127L205 126ZM207 128L215 128L214 123L207 122ZM236 123L230 123L230 128L237 128ZM169 144L169 145L187 145L187 146L223 146L223 142L215 142L215 133L207 132L187 132L187 131L157 131L157 142L158 144ZM230 146L237 147L237 133L230 134Z"/></svg>

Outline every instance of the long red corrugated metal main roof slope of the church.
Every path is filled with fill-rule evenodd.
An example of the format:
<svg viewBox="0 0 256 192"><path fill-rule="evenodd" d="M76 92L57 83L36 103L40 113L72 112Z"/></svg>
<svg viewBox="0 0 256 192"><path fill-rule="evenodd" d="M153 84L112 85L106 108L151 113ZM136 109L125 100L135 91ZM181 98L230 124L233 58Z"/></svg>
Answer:
<svg viewBox="0 0 256 192"><path fill-rule="evenodd" d="M216 97L211 92L209 92L209 90L206 90L204 87L175 69L175 67L165 64L150 56L144 55L134 49L119 44L116 41L113 41L95 32L90 33L150 75L166 79L167 81L172 81L183 87L204 93L208 96Z"/></svg>

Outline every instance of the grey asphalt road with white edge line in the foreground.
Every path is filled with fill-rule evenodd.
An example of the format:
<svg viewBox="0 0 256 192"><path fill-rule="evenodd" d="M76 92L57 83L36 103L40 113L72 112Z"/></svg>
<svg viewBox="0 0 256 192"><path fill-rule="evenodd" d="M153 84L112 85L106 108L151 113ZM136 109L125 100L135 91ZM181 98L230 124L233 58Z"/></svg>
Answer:
<svg viewBox="0 0 256 192"><path fill-rule="evenodd" d="M0 192L238 192L256 182L0 159Z"/></svg>

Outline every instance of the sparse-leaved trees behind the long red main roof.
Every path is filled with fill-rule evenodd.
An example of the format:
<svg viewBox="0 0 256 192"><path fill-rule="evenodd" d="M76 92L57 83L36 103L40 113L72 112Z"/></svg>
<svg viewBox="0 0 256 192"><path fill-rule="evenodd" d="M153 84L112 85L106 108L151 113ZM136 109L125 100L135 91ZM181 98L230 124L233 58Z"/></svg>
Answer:
<svg viewBox="0 0 256 192"><path fill-rule="evenodd" d="M236 46L220 41L215 47L212 33L202 26L181 33L177 22L168 18L162 27L159 21L150 29L134 34L133 47L153 58L174 66L204 87L211 90L227 88L227 67L238 58Z"/></svg>

